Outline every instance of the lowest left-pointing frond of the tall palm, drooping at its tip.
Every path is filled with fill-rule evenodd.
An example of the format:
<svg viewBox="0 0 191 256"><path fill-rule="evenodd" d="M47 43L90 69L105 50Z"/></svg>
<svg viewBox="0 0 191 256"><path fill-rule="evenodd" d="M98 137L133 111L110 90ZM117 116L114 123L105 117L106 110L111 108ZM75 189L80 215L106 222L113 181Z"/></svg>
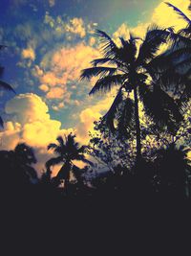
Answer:
<svg viewBox="0 0 191 256"><path fill-rule="evenodd" d="M96 81L95 86L92 88L89 94L95 94L99 91L109 92L113 86L123 84L125 79L127 79L127 75L114 75L101 78Z"/></svg>

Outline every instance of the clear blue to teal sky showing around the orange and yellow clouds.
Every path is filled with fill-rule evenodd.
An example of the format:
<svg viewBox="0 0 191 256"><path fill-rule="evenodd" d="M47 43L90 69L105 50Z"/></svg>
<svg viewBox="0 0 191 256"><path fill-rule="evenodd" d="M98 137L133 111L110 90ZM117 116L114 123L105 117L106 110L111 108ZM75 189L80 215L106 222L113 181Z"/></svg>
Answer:
<svg viewBox="0 0 191 256"><path fill-rule="evenodd" d="M70 20L78 18L82 20L85 30L96 28L113 34L122 23L129 26L137 26L138 22L144 22L147 14L153 10L159 1L147 0L3 0L0 3L1 31L0 39L2 44L8 45L8 49L1 53L1 64L6 67L4 80L16 87L17 93L33 92L44 97L44 92L39 89L39 81L32 76L32 68L39 65L44 55L64 46L74 47L77 43L88 43L92 34L77 35L74 33L68 40L65 32L62 35L55 35L56 25L53 27L45 24L46 16L50 19L60 17L62 23L70 23ZM96 26L94 26L96 25ZM87 28L88 26L91 29ZM92 33L92 32L91 32ZM69 35L68 35L69 36ZM30 46L29 46L30 45ZM35 58L29 63L30 58L21 58L24 49L32 48ZM70 89L69 89L70 90ZM81 85L77 88L77 96L74 91L71 95L72 100L80 100L86 97L88 91ZM79 93L81 91L81 93ZM10 99L11 95L4 99ZM61 99L47 100L48 105L56 105ZM54 101L54 103L53 103ZM3 102L5 104L5 102ZM55 108L54 108L55 109ZM64 109L50 112L53 117L59 118L64 115L66 127L73 125L69 121L68 115L73 111L73 105ZM60 113L61 112L61 113ZM6 117L5 117L6 118ZM71 120L71 118L70 118Z"/></svg>

